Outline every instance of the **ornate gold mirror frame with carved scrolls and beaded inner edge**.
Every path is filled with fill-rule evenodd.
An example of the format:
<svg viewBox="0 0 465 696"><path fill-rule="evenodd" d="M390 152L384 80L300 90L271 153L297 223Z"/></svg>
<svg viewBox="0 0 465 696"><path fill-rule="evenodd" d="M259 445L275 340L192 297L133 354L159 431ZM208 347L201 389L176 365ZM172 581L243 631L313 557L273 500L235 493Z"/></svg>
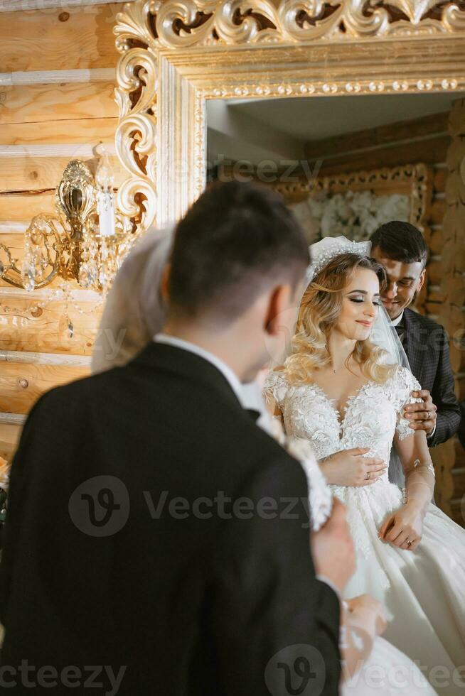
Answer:
<svg viewBox="0 0 465 696"><path fill-rule="evenodd" d="M135 0L114 33L118 207L140 230L202 192L207 99L465 89L463 1Z"/></svg>

